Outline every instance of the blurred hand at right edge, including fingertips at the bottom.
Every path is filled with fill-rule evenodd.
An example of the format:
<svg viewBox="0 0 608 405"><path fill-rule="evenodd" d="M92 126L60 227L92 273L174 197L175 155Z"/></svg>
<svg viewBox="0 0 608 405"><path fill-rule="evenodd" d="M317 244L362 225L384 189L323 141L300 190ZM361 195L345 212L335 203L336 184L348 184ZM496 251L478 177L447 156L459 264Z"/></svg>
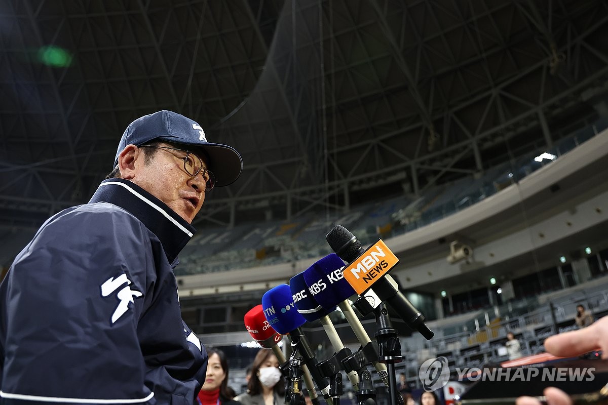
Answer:
<svg viewBox="0 0 608 405"><path fill-rule="evenodd" d="M545 340L545 350L554 356L572 357L601 349L602 359L608 359L608 316L586 328L551 336ZM543 394L548 405L572 405L570 396L564 391L548 387ZM532 396L520 396L516 405L540 405Z"/></svg>

